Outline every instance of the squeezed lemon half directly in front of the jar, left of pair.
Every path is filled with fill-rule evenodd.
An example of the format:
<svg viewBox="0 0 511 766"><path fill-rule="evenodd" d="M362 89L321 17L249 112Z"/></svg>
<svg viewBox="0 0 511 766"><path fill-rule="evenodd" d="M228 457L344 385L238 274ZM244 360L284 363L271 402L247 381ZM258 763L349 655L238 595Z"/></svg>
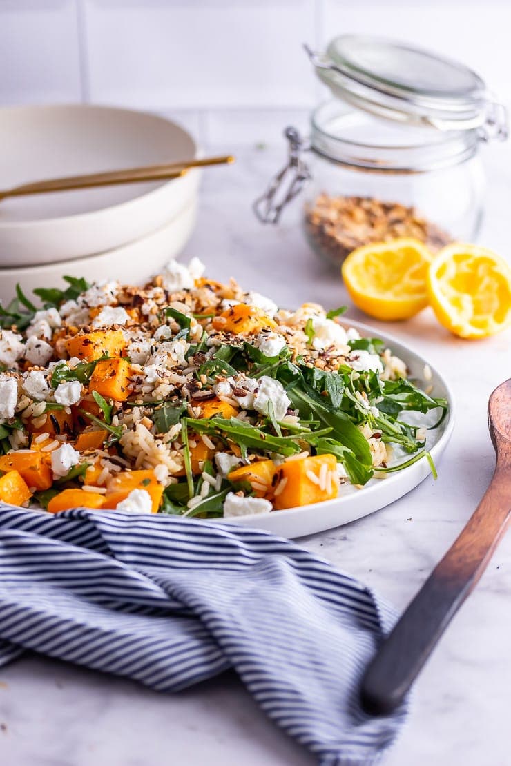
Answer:
<svg viewBox="0 0 511 766"><path fill-rule="evenodd" d="M432 255L408 238L353 250L342 264L342 279L359 309L376 319L408 319L427 306L427 269Z"/></svg>

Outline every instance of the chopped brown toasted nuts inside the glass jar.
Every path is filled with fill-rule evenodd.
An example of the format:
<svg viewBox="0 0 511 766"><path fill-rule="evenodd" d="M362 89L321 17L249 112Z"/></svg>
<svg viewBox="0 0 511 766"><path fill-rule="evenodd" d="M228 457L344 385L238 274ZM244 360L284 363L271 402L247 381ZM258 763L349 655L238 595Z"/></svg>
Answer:
<svg viewBox="0 0 511 766"><path fill-rule="evenodd" d="M323 193L306 207L310 244L337 264L356 247L414 237L440 250L452 237L413 207L373 197L330 197Z"/></svg>

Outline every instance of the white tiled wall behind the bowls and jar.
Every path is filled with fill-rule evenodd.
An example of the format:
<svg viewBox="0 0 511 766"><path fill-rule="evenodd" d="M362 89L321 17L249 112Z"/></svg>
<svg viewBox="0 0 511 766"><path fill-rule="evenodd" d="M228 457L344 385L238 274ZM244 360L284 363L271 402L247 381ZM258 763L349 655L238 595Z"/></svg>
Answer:
<svg viewBox="0 0 511 766"><path fill-rule="evenodd" d="M275 142L324 93L302 49L386 34L511 101L511 0L0 0L0 104L155 110L203 143Z"/></svg>

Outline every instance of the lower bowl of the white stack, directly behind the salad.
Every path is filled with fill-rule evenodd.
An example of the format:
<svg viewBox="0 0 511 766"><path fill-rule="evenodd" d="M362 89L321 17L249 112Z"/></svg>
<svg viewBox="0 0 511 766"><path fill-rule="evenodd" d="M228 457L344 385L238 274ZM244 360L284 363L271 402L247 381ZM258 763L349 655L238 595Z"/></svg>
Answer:
<svg viewBox="0 0 511 766"><path fill-rule="evenodd" d="M34 287L62 287L65 285L64 274L90 281L120 280L143 284L185 246L195 224L196 207L196 200L192 199L172 221L157 231L100 255L43 266L0 269L0 300L4 306L8 304L15 296L16 283L20 283L28 297L33 297Z"/></svg>

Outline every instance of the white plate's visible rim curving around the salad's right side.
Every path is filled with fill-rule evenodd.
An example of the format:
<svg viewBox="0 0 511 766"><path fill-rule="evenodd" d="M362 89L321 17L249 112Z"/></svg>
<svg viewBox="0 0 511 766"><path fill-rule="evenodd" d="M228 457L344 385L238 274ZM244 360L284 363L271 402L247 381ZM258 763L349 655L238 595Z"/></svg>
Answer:
<svg viewBox="0 0 511 766"><path fill-rule="evenodd" d="M423 371L424 365L427 363L426 360L408 349L407 346L402 345L397 339L384 335L382 332L375 332L373 328L361 322L346 322L346 327L348 326L358 329L362 336L381 338L396 356L403 359L412 378L418 378L419 381L422 381L423 387L433 385L432 395L434 397L447 399L449 411L444 422L440 427L427 432L427 448L431 451L435 465L438 466L441 454L447 447L454 427L454 401L446 381L439 372L431 368L432 379L427 383L424 382ZM404 459L406 460L406 457ZM414 489L430 473L429 463L424 458L398 473L389 474L386 479L372 479L362 489L344 485L346 490L343 490L339 497L334 500L315 502L310 506L289 508L285 511L238 516L237 518L230 518L228 521L234 522L234 524L257 527L257 529L266 529L268 532L274 532L276 535L287 538L312 535L315 532L323 532L325 529L349 524L355 519L362 519L362 516L368 516L369 513L388 506L390 502L394 502ZM218 521L222 520L218 519Z"/></svg>

